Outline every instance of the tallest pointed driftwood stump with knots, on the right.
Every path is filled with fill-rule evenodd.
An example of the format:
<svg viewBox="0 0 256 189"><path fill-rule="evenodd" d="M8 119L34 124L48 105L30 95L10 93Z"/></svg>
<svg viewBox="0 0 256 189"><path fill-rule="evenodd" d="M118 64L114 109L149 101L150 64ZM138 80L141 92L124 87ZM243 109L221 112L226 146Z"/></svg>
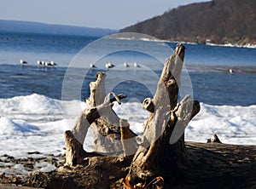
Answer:
<svg viewBox="0 0 256 189"><path fill-rule="evenodd" d="M186 155L183 132L200 111L199 102L188 101L189 96L177 104L184 53L185 48L178 44L166 60L154 99L143 101L150 115L144 125L143 145L138 147L126 176L127 185L136 186L154 176L183 169Z"/></svg>

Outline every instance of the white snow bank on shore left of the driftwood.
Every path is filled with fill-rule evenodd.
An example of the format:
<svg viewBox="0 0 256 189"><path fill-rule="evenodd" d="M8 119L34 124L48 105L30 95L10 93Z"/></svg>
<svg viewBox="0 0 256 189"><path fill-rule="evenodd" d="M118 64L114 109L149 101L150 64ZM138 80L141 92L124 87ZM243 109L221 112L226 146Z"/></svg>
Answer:
<svg viewBox="0 0 256 189"><path fill-rule="evenodd" d="M74 110L82 102L61 102L44 95L31 94L0 99L0 155L24 158L27 152L58 154L65 146L66 120L76 119ZM68 106L66 117L62 106Z"/></svg>

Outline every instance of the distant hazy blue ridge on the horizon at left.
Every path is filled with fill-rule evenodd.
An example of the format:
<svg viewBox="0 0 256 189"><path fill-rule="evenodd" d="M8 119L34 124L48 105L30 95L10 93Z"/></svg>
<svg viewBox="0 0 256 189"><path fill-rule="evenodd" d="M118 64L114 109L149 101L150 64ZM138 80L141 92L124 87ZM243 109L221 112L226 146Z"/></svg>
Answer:
<svg viewBox="0 0 256 189"><path fill-rule="evenodd" d="M42 34L47 33L61 35L83 35L93 37L102 37L109 35L113 32L116 32L114 30L102 28L50 25L39 22L17 20L0 20L0 31L31 32Z"/></svg>

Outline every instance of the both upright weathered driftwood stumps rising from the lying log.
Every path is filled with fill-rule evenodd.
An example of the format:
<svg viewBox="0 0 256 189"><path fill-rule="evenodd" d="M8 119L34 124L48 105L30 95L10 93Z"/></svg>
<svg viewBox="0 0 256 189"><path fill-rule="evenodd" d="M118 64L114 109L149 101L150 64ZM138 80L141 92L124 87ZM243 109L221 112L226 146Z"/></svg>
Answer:
<svg viewBox="0 0 256 189"><path fill-rule="evenodd" d="M185 48L178 44L172 56L166 60L154 99L147 98L143 101L143 107L148 110L149 117L144 125L143 135L137 137L138 149L129 140L132 133L129 123L120 120L112 110L110 95L112 94L119 104L119 96L124 95L106 95L106 75L102 72L97 73L96 82L90 83L90 97L85 100L88 108L81 113L73 131L65 133L67 165L81 164L84 158L90 157L90 153L84 152L82 144L87 130L91 127L96 130L95 133L104 135L103 139L96 139L96 152L106 150L105 152L120 152L126 156L137 150L130 173L127 175L128 186L135 186L138 183L142 185L148 179L163 174L166 165L170 169L182 169L183 161L186 160L183 132L189 120L200 111L199 102L188 101L189 96L185 96L177 103L184 53ZM113 133L118 136L114 136ZM121 143L113 140L120 140Z"/></svg>

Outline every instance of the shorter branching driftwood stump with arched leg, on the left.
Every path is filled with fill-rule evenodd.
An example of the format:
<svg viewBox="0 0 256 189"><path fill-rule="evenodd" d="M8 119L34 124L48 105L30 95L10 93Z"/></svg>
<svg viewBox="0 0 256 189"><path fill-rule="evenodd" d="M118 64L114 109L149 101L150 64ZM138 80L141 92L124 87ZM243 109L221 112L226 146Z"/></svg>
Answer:
<svg viewBox="0 0 256 189"><path fill-rule="evenodd" d="M85 101L88 108L84 109L79 115L72 131L65 132L66 164L75 166L83 164L84 158L96 156L96 152L107 155L122 154L124 152L124 143L121 143L121 130L119 123L125 123L113 112L113 101L121 103L120 99L125 98L125 94L116 95L109 93L106 95L104 79L106 74L98 72L96 82L90 83L90 97ZM111 98L113 96L113 98ZM95 136L94 152L85 152L83 149L84 139L89 127L93 130ZM125 125L124 139L127 141L135 134ZM131 143L131 141L129 141ZM127 146L128 147L128 146ZM130 151L135 152L136 146L132 146Z"/></svg>

